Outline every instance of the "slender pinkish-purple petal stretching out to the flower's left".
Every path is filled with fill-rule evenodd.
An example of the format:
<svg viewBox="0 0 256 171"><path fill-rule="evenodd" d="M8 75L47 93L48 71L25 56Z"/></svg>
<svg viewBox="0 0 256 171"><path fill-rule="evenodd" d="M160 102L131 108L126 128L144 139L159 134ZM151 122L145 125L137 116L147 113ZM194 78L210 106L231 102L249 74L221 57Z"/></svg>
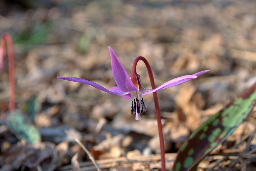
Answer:
<svg viewBox="0 0 256 171"><path fill-rule="evenodd" d="M83 84L88 84L92 87L95 87L99 90L102 90L102 91L105 91L107 93L111 93L111 94L117 94L117 95L126 95L128 93L119 93L119 92L113 92L113 91L110 91L102 86L100 86L99 84L96 84L94 82L91 82L91 81L88 81L88 80L84 80L84 79L81 79L81 78L76 78L76 77L57 77L58 79L60 80L67 80L67 81L73 81L73 82L80 82L80 83L83 83Z"/></svg>

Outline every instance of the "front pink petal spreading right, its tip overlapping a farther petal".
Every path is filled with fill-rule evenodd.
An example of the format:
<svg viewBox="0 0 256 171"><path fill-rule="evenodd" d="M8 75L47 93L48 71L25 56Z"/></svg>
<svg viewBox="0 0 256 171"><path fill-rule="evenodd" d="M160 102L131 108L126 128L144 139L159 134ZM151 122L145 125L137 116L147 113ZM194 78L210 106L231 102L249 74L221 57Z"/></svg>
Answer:
<svg viewBox="0 0 256 171"><path fill-rule="evenodd" d="M189 81L191 79L195 79L195 78L197 78L196 75L181 76L181 77L178 77L178 78L174 78L170 81L167 81L167 82L163 83L161 86L159 86L155 89L149 90L148 92L139 92L139 93L140 94L150 94L150 93L156 92L158 90L162 90L162 89L166 89L166 88L169 88L169 87L177 86L179 84L182 84L184 82L187 82L187 81Z"/></svg>

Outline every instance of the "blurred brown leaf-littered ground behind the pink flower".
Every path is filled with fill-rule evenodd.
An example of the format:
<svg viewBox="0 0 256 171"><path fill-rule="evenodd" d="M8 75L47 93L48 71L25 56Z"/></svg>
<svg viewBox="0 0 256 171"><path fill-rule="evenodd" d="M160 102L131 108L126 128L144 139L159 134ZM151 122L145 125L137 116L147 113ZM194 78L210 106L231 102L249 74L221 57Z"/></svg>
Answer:
<svg viewBox="0 0 256 171"><path fill-rule="evenodd" d="M108 46L128 75L133 60L144 56L156 86L210 69L195 80L158 91L167 153L176 153L192 131L256 81L255 1L2 0L0 35L4 32L14 43L17 108L30 107L29 101L36 104L29 118L42 137L38 146L31 146L0 125L0 164L8 170L38 165L42 170L68 170L71 161L72 168L89 161L64 130L78 137L96 159L160 152L152 94L143 96L147 108L143 121L135 121L130 100L56 78L79 77L105 88L115 86ZM8 60L4 65L2 114L8 104ZM137 72L150 89L142 62ZM252 115L225 147L254 129ZM36 159L31 160L31 154L20 159L26 150L33 151ZM58 162L52 162L57 161L54 156ZM106 169L159 169L159 158L153 161ZM210 161L202 162L201 169L207 169ZM167 161L168 169L172 162L173 158Z"/></svg>

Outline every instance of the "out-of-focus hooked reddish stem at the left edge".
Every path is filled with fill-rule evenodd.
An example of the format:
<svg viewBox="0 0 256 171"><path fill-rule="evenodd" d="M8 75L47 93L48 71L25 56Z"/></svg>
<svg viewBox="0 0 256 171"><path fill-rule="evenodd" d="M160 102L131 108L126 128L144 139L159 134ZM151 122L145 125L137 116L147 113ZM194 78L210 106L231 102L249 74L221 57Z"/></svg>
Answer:
<svg viewBox="0 0 256 171"><path fill-rule="evenodd" d="M4 60L5 43L7 44L9 65L9 111L15 110L15 80L14 80L14 54L13 41L9 33L4 33L0 40L0 60ZM0 62L1 63L1 62Z"/></svg>

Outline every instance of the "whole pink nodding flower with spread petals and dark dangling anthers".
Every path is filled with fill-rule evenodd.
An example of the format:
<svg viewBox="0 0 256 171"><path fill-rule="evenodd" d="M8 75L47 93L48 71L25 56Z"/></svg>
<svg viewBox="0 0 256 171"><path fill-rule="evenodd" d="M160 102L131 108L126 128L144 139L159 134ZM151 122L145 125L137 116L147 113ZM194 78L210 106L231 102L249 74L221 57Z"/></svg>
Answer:
<svg viewBox="0 0 256 171"><path fill-rule="evenodd" d="M132 98L133 100L132 100L131 115L133 114L133 112L135 112L135 120L138 120L138 119L142 120L140 113L143 112L143 109L145 110L145 112L147 112L147 110L145 108L145 104L143 102L142 95L150 94L150 93L156 92L158 90L177 86L177 85L187 82L191 79L195 79L195 78L197 78L197 76L209 71L209 70L204 70L204 71L200 71L195 74L192 74L192 75L185 75L185 76L177 77L177 78L174 78L172 80L169 80L169 81L163 83L161 86L159 86L155 89L149 90L149 89L145 89L142 86L141 80L140 80L140 75L135 74L135 75L131 75L130 77L128 76L127 72L125 71L122 64L119 62L115 52L112 50L112 48L110 46L109 46L109 52L110 52L110 57L111 57L112 74L113 74L113 77L114 77L114 80L115 80L117 86L111 87L108 90L108 89L100 86L97 83L94 83L94 82L91 82L88 80L84 80L81 78L76 78L76 77L57 77L57 78L62 79L62 80L68 80L68 81L74 81L74 82L80 82L83 84L88 84L92 87L95 87L95 88L105 91L107 93L120 95L120 96L124 97L125 99ZM140 97L141 102L138 100L138 97ZM142 105L141 110L140 110L140 103Z"/></svg>

